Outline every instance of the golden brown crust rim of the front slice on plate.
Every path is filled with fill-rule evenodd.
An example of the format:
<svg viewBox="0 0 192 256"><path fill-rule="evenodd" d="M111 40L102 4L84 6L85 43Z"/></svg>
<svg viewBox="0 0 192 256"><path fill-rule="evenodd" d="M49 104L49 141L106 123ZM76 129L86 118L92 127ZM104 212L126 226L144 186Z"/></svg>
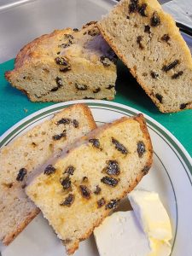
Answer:
<svg viewBox="0 0 192 256"><path fill-rule="evenodd" d="M116 124L123 122L125 119L127 119L126 117L123 117L121 119L118 119L117 121L115 121ZM142 180L143 176L146 175L148 173L148 170L150 169L150 167L152 166L152 162L153 162L153 146L151 143L151 139L148 133L148 129L146 126L146 122L143 116L143 113L139 113L136 117L134 117L135 120L137 120L137 122L139 123L141 130L143 131L143 136L146 138L147 142L148 142L148 162L146 164L146 168L144 170L141 170L140 174L137 176L136 180L133 181L133 183L120 195L119 199L123 199L128 193L130 193L136 186L137 184ZM113 123L114 124L114 123ZM111 124L107 124L107 126L105 128L108 128L108 126ZM94 132L94 131L93 131ZM93 230L100 224L102 224L102 221L104 220L104 218L106 218L108 216L108 214L110 213L110 210L106 210L106 212L104 212L104 214L102 215L102 218L97 219L96 223L90 228L90 230L84 234L84 236L82 236L79 241L83 241L85 239L87 239L91 233L93 232ZM79 248L79 242L75 241L73 247L70 247L70 249L67 250L67 253L69 255L73 254L77 249Z"/></svg>

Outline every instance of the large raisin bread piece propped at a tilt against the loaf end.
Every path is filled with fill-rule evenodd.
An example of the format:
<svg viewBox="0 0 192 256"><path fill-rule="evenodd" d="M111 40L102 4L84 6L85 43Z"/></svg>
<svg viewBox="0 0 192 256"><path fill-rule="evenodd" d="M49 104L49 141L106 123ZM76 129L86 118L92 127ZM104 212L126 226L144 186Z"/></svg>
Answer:
<svg viewBox="0 0 192 256"><path fill-rule="evenodd" d="M156 0L122 0L98 27L161 112L192 108L190 51Z"/></svg>

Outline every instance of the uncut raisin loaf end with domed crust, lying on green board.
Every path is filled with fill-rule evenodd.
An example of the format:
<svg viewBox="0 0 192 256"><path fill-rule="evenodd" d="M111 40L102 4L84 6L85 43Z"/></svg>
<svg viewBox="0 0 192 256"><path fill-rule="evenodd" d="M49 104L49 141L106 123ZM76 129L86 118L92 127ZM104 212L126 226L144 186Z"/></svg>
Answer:
<svg viewBox="0 0 192 256"><path fill-rule="evenodd" d="M32 102L113 99L116 58L95 23L35 39L21 49L5 77Z"/></svg>

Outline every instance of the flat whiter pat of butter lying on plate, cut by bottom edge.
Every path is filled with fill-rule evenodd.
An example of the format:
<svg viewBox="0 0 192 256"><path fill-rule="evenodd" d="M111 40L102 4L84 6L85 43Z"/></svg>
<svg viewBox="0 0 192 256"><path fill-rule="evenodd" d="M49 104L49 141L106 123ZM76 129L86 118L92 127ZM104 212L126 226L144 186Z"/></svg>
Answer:
<svg viewBox="0 0 192 256"><path fill-rule="evenodd" d="M151 253L134 212L114 212L94 230L100 256L147 256Z"/></svg>

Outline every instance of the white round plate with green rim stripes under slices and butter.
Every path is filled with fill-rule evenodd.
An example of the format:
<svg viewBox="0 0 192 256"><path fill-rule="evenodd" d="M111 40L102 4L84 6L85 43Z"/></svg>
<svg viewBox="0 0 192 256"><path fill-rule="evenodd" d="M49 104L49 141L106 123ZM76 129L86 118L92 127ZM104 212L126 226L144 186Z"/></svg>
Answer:
<svg viewBox="0 0 192 256"><path fill-rule="evenodd" d="M76 101L84 102L84 101ZM54 113L74 102L55 104L21 120L0 140L6 145L21 133L49 119ZM134 108L105 101L86 101L97 124L111 122L122 116L137 114ZM177 139L154 119L145 115L148 131L154 146L154 164L137 188L157 191L172 221L172 256L192 255L192 161ZM9 247L2 249L3 256L51 256L65 255L61 241L41 214L34 218ZM96 244L91 236L80 243L76 256L96 256ZM125 255L122 255L125 256ZM141 255L142 256L142 255Z"/></svg>

